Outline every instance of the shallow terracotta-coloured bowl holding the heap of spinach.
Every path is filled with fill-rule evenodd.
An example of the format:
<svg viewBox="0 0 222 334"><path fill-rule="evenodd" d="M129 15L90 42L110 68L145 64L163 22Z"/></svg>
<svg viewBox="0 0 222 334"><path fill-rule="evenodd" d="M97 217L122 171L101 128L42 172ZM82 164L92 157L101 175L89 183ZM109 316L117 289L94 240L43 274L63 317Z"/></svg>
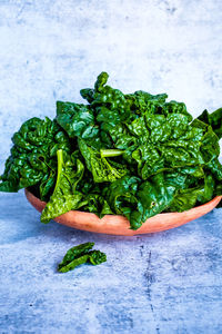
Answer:
<svg viewBox="0 0 222 334"><path fill-rule="evenodd" d="M42 212L46 206L46 202L40 200L34 195L32 195L28 189L24 190L27 199L31 205ZM130 229L129 220L123 216L105 215L100 219L97 215L91 213L82 213L71 210L63 214L54 220L57 223L94 233L114 234L114 235L137 235L145 233L154 233L164 229L174 228L181 226L188 222L196 219L208 213L210 213L221 200L222 196L216 196L212 200L204 205L194 207L188 212L183 213L170 213L170 214L159 214L154 217L149 218L139 229Z"/></svg>

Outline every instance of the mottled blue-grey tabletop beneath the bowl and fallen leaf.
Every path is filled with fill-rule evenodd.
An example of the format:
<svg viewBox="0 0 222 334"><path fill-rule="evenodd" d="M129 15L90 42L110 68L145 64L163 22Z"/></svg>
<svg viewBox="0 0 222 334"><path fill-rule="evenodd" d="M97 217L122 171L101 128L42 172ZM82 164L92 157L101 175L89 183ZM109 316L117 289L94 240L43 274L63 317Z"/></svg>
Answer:
<svg viewBox="0 0 222 334"><path fill-rule="evenodd" d="M135 237L71 229L0 194L1 333L222 333L222 209ZM60 274L73 245L108 261Z"/></svg>

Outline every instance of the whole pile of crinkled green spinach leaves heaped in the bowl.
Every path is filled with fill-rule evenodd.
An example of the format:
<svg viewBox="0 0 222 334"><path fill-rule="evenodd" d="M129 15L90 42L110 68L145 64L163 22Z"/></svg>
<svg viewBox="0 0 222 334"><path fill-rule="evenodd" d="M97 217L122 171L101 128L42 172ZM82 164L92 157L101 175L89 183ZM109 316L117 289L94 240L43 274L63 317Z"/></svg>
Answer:
<svg viewBox="0 0 222 334"><path fill-rule="evenodd" d="M124 95L99 75L87 104L57 102L12 137L1 191L29 189L48 202L41 220L71 209L123 215L130 228L222 195L222 109L196 119L183 102L139 90Z"/></svg>

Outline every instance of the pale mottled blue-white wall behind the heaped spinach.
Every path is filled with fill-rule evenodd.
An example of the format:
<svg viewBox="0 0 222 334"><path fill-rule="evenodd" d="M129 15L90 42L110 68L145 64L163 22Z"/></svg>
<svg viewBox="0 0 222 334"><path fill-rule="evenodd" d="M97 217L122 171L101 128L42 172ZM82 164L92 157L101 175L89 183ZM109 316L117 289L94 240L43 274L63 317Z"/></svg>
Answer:
<svg viewBox="0 0 222 334"><path fill-rule="evenodd" d="M221 21L220 0L0 0L1 161L22 121L79 101L102 70L193 115L221 107Z"/></svg>

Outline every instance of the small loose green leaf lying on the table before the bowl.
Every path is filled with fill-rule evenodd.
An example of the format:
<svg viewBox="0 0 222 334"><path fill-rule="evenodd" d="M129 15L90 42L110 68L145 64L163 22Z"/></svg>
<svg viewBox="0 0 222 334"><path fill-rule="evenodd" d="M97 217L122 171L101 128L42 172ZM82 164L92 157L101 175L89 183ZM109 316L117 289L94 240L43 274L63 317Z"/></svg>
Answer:
<svg viewBox="0 0 222 334"><path fill-rule="evenodd" d="M90 250L93 246L94 243L85 243L70 248L62 262L58 265L58 271L60 273L67 273L84 263L99 265L105 262L107 255L104 253L100 250Z"/></svg>

